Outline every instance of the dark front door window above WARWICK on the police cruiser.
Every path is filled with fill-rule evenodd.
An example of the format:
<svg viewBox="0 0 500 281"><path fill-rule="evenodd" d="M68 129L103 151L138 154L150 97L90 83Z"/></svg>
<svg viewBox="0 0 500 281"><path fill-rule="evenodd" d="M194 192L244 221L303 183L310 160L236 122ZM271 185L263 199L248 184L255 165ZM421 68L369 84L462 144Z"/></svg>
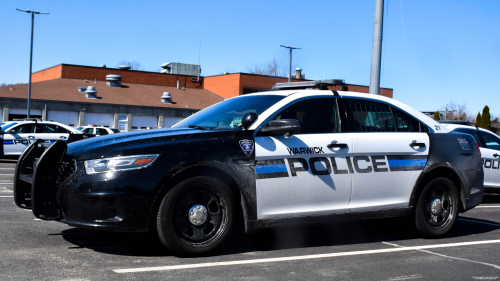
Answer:
<svg viewBox="0 0 500 281"><path fill-rule="evenodd" d="M338 133L339 115L335 98L308 99L294 103L276 115L274 120L297 119L299 134Z"/></svg>

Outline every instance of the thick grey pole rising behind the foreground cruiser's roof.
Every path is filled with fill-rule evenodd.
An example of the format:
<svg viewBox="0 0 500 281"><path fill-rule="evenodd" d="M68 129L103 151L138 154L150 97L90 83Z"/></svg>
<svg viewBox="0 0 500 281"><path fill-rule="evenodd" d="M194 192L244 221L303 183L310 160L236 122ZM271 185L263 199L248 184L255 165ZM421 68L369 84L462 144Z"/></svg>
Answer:
<svg viewBox="0 0 500 281"><path fill-rule="evenodd" d="M382 57L382 30L384 23L384 0L375 0L373 21L372 68L370 72L370 94L380 95L380 62Z"/></svg>

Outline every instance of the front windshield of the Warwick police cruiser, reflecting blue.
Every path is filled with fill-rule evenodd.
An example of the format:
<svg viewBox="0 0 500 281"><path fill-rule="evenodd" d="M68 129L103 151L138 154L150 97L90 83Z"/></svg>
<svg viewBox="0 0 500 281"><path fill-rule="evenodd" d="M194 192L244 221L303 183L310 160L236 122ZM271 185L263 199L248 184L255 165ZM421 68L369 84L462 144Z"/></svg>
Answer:
<svg viewBox="0 0 500 281"><path fill-rule="evenodd" d="M201 127L203 129L239 129L243 115L249 112L261 114L266 109L285 98L278 95L248 95L220 102L196 113L179 123L180 127Z"/></svg>

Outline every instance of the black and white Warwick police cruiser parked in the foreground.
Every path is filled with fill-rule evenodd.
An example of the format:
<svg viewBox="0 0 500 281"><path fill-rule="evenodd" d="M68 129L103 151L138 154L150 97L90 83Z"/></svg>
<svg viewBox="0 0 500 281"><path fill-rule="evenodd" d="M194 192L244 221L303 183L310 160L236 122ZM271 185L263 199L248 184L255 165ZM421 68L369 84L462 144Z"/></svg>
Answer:
<svg viewBox="0 0 500 281"><path fill-rule="evenodd" d="M70 226L152 231L192 255L226 242L239 210L247 232L402 217L434 237L482 201L472 136L390 98L327 90L341 84L277 84L171 129L34 143L16 167L15 203Z"/></svg>

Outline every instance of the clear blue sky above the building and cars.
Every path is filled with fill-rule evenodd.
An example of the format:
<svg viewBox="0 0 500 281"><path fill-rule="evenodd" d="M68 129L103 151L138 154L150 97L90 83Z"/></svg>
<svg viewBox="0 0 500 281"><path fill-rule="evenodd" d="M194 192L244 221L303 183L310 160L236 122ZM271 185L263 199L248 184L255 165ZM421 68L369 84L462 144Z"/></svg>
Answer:
<svg viewBox="0 0 500 281"><path fill-rule="evenodd" d="M374 0L354 1L2 1L0 83L28 81L30 15L33 71L60 63L147 71L165 62L198 63L202 75L246 72L278 58L280 44L302 47L293 64L306 78L368 85ZM385 0L381 86L419 110L467 103L500 114L500 1ZM403 24L404 23L404 24ZM201 34L201 35L200 35ZM474 114L475 115L475 114Z"/></svg>

